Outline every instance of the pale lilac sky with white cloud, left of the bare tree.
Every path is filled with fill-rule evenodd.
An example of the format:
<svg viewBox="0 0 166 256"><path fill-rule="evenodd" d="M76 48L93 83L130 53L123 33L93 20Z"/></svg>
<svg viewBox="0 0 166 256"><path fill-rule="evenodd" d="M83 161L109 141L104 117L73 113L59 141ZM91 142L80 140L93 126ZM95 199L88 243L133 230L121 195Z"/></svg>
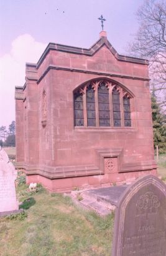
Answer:
<svg viewBox="0 0 166 256"><path fill-rule="evenodd" d="M48 42L90 48L103 14L108 40L119 54L139 27L144 0L1 0L0 126L15 120L15 86L25 82L25 62L37 62Z"/></svg>

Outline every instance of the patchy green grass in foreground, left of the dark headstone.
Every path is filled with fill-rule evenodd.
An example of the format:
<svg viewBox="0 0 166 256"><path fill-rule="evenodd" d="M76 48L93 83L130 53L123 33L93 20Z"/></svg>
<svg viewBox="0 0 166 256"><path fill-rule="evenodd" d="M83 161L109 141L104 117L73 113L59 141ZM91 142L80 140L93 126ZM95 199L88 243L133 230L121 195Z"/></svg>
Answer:
<svg viewBox="0 0 166 256"><path fill-rule="evenodd" d="M27 217L0 219L0 255L109 255L113 215L99 217L79 209L62 194L27 192L17 187L19 201L32 198ZM28 208L28 207L27 207Z"/></svg>

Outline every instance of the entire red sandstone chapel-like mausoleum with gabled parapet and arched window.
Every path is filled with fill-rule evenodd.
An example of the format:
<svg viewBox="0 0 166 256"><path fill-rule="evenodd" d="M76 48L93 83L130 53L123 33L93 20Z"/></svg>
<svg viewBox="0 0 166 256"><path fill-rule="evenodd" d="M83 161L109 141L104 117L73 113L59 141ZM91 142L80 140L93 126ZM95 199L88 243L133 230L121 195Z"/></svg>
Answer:
<svg viewBox="0 0 166 256"><path fill-rule="evenodd" d="M90 48L48 44L16 87L17 167L51 191L156 174L148 62L106 32Z"/></svg>

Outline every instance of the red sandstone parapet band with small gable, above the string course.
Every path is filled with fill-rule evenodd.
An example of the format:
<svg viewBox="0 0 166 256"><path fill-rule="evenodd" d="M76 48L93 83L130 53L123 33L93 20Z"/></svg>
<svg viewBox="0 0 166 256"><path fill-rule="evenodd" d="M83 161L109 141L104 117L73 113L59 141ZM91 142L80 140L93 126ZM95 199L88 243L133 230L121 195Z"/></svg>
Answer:
<svg viewBox="0 0 166 256"><path fill-rule="evenodd" d="M118 61L106 46L101 47L93 56L52 50L50 51L50 58L47 57L48 59L47 64L49 63L55 66L148 77L147 66ZM41 68L43 66L41 65Z"/></svg>

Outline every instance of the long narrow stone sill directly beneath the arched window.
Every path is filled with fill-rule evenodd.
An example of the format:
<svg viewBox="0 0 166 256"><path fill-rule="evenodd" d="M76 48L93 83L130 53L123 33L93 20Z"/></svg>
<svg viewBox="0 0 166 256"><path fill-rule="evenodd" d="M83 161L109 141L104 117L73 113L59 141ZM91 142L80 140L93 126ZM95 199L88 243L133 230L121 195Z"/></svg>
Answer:
<svg viewBox="0 0 166 256"><path fill-rule="evenodd" d="M136 127L95 127L75 126L77 132L136 132Z"/></svg>

